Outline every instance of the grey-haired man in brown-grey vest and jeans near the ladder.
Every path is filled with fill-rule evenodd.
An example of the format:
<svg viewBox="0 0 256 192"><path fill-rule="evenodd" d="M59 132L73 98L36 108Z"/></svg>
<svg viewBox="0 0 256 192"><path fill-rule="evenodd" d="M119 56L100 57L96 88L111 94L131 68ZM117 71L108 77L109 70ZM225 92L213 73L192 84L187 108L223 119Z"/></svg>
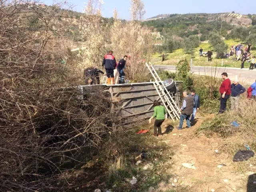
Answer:
<svg viewBox="0 0 256 192"><path fill-rule="evenodd" d="M187 127L190 128L190 115L193 113L193 106L194 106L194 99L192 96L188 95L188 91L184 90L182 93L184 100L183 105L180 108L181 115L180 115L180 124L177 129L182 129L183 121L186 119Z"/></svg>

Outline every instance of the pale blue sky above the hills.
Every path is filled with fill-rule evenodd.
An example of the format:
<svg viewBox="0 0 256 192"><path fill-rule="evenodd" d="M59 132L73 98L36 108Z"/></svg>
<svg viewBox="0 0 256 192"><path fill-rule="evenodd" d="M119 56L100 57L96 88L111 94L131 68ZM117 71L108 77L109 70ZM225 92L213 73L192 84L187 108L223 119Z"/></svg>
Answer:
<svg viewBox="0 0 256 192"><path fill-rule="evenodd" d="M42 0L52 5L52 0ZM74 5L73 10L82 12L86 0L66 0ZM130 19L130 0L103 0L102 16L110 18L114 8L118 11L118 18ZM143 19L159 14L186 14L186 13L224 13L236 12L239 14L256 14L256 0L143 0L146 14Z"/></svg>

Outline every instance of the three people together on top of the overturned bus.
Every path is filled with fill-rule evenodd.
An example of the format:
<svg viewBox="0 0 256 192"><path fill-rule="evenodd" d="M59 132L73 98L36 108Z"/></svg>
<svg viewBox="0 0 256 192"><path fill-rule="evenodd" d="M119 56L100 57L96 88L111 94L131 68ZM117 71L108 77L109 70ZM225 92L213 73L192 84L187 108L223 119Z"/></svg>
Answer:
<svg viewBox="0 0 256 192"><path fill-rule="evenodd" d="M110 50L108 54L104 55L104 58L102 61L102 69L105 68L106 73L93 67L88 67L84 69L85 84L93 85L94 79L97 80L97 84L100 84L99 73L102 73L107 76L107 83L106 83L107 85L115 84L114 69L117 69L119 73L118 84L123 84L124 78L125 78L124 69L125 69L127 58L128 56L124 55L124 57L120 59L119 62L116 62L116 58L113 55L113 51Z"/></svg>

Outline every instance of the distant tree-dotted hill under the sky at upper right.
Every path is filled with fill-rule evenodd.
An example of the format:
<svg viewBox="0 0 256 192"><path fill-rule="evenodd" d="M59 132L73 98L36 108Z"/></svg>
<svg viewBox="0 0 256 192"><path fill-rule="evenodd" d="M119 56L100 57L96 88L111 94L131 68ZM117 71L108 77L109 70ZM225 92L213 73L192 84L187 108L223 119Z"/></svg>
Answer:
<svg viewBox="0 0 256 192"><path fill-rule="evenodd" d="M144 20L142 24L149 27L152 32L160 32L165 38L198 35L201 41L204 41L214 30L227 37L234 26L256 24L256 17L235 13L162 14Z"/></svg>

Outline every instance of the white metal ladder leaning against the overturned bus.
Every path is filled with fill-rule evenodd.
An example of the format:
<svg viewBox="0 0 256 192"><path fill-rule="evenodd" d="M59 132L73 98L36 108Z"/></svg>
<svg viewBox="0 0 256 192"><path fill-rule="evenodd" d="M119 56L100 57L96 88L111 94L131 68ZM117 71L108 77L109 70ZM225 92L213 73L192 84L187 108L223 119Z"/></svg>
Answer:
<svg viewBox="0 0 256 192"><path fill-rule="evenodd" d="M154 87L156 88L156 91L160 99L162 100L162 103L164 104L164 107L168 114L170 115L171 119L173 121L180 119L180 110L176 105L175 101L172 99L169 91L164 86L163 81L161 81L160 77L156 73L156 70L154 69L153 65L149 62L146 63L146 66L148 67L150 73L155 79L155 82L153 82Z"/></svg>

